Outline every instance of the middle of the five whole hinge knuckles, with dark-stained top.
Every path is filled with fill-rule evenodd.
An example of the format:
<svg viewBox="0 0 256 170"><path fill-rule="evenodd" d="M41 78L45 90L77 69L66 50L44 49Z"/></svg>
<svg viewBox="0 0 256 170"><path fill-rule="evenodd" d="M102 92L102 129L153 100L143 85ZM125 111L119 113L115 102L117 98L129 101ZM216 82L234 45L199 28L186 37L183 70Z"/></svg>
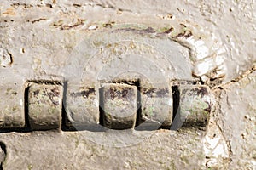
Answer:
<svg viewBox="0 0 256 170"><path fill-rule="evenodd" d="M135 127L137 117L137 87L108 84L102 89L103 125L113 129Z"/></svg>

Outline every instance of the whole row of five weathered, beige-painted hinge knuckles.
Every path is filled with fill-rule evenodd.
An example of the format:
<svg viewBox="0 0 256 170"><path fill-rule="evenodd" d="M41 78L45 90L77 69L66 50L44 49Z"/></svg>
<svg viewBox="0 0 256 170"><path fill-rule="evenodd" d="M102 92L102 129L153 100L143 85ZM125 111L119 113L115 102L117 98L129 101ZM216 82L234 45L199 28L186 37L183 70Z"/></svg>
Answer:
<svg viewBox="0 0 256 170"><path fill-rule="evenodd" d="M19 121L27 121L26 125L32 130L61 128L62 112L65 111L62 126L67 127L94 127L99 123L113 129L171 127L172 123L207 125L212 108L207 86L148 87L145 84L137 87L105 83L96 90L93 85L79 89L67 85L64 93L61 83L30 82L25 93L26 116L20 116L22 120ZM5 116L8 123L4 122ZM15 124L15 121L15 116L3 114L0 127L25 127L25 123Z"/></svg>

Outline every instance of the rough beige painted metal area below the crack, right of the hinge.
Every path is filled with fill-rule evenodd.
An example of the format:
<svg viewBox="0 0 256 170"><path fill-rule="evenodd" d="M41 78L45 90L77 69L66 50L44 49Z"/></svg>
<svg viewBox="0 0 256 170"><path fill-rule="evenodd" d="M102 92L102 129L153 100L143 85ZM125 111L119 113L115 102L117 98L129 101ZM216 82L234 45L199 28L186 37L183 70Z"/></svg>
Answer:
<svg viewBox="0 0 256 170"><path fill-rule="evenodd" d="M256 72L224 85L219 94L218 126L230 146L231 166L255 168Z"/></svg>

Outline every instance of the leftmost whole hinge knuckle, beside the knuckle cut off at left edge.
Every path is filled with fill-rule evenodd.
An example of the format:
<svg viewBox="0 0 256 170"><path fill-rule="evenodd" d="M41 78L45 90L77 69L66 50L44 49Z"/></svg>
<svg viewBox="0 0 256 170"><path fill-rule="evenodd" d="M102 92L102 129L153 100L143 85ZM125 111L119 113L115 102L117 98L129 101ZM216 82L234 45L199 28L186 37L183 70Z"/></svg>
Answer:
<svg viewBox="0 0 256 170"><path fill-rule="evenodd" d="M31 83L27 90L27 114L32 130L60 128L63 87Z"/></svg>

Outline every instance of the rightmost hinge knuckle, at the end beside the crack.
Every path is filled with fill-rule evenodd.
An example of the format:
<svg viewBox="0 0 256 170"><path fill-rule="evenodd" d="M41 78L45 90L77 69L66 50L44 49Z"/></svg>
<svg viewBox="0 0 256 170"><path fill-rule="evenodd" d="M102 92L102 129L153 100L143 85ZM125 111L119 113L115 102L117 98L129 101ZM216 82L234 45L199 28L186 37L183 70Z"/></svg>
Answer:
<svg viewBox="0 0 256 170"><path fill-rule="evenodd" d="M180 85L176 91L179 99L173 123L183 127L205 127L212 111L210 88L201 85Z"/></svg>

